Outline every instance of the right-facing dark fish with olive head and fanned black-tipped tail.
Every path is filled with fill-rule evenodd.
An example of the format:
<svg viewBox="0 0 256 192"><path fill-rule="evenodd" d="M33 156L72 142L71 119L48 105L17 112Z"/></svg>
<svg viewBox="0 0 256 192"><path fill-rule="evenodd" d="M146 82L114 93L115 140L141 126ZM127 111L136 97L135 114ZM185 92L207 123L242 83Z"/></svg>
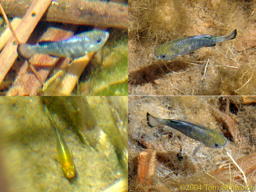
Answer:
<svg viewBox="0 0 256 192"><path fill-rule="evenodd" d="M156 127L158 125L172 127L184 135L201 142L202 144L194 150L193 155L196 154L202 145L210 148L224 148L228 146L228 139L222 133L203 125L174 119L160 119L149 113L147 113L147 123L149 127Z"/></svg>

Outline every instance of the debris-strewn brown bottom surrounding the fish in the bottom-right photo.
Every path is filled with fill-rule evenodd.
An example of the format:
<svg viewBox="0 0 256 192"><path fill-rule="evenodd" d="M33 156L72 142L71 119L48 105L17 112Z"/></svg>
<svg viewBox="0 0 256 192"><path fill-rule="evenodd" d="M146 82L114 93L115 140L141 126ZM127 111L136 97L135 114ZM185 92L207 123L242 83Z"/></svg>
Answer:
<svg viewBox="0 0 256 192"><path fill-rule="evenodd" d="M134 96L128 99L129 190L184 191L181 185L191 186L190 191L198 191L193 188L196 185L201 185L202 191L206 191L205 185L218 187L212 189L214 192L222 191L222 185L240 187L240 191L241 187L255 188L254 96ZM164 118L152 122L156 118L148 116L149 124L154 126L161 121L161 125L149 128L147 112ZM200 142L168 127L169 123L180 126L180 121L169 119L207 126L215 133L223 133L224 142L228 139L229 145L203 147L193 155L192 150Z"/></svg>

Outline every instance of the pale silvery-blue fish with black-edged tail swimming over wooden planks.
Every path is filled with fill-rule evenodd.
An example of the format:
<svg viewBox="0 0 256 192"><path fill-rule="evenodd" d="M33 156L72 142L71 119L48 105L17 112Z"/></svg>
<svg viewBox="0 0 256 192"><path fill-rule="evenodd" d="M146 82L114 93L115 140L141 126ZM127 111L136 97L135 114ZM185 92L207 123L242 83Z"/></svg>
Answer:
<svg viewBox="0 0 256 192"><path fill-rule="evenodd" d="M97 52L106 43L108 36L108 31L93 29L62 41L19 44L17 52L24 59L29 59L35 53L75 59Z"/></svg>

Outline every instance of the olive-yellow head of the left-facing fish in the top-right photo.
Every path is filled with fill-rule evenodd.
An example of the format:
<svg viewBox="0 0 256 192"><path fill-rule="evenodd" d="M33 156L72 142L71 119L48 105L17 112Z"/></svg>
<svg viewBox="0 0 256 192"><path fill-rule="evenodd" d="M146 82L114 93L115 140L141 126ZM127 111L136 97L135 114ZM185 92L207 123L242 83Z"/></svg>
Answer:
<svg viewBox="0 0 256 192"><path fill-rule="evenodd" d="M176 57L177 55L175 52L172 50L168 44L162 44L160 45L154 52L154 57L156 59L163 59L163 60L172 60Z"/></svg>

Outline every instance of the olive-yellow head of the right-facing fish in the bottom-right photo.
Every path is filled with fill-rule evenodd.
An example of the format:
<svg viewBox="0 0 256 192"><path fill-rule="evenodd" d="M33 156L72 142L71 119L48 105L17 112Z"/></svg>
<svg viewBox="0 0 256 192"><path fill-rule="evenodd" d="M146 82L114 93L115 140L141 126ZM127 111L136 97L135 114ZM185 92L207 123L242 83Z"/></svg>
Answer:
<svg viewBox="0 0 256 192"><path fill-rule="evenodd" d="M216 130L211 130L204 142L204 145L210 148L224 148L228 144L228 139Z"/></svg>

